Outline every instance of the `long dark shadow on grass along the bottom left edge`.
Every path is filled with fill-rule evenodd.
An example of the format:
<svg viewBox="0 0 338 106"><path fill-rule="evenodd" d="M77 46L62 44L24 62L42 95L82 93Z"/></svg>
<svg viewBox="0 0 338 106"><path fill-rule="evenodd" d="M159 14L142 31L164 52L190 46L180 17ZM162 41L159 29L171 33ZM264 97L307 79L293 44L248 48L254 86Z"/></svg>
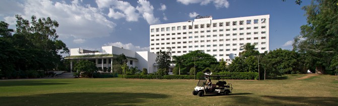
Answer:
<svg viewBox="0 0 338 106"><path fill-rule="evenodd" d="M154 93L81 92L0 97L0 102L1 105L142 105L167 97Z"/></svg>

